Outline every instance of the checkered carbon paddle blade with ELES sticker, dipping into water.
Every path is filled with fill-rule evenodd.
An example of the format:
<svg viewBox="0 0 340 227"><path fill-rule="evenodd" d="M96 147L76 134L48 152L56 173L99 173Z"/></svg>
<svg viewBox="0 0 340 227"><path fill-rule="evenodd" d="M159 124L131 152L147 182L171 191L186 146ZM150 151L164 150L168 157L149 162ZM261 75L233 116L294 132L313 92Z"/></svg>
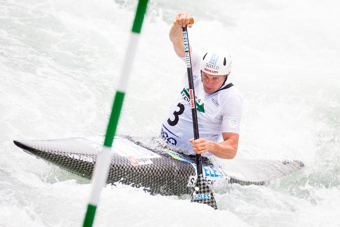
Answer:
<svg viewBox="0 0 340 227"><path fill-rule="evenodd" d="M191 202L204 203L217 209L215 198L202 174L197 176L197 181L191 194Z"/></svg>

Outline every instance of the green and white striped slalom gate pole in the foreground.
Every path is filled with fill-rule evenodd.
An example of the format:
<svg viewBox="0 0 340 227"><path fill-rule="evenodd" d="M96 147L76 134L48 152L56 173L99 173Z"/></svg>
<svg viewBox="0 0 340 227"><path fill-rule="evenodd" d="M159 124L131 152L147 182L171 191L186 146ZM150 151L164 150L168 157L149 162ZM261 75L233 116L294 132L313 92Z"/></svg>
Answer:
<svg viewBox="0 0 340 227"><path fill-rule="evenodd" d="M83 222L83 226L86 227L92 226L93 224L95 210L99 201L101 187L104 186L106 183L108 170L111 163L111 146L113 142L113 137L118 124L120 110L124 99L125 90L127 87L128 76L132 68L133 58L139 40L140 29L143 23L144 14L146 12L147 1L148 0L139 0L138 2L136 15L134 17L132 31L130 34L130 39L128 41L127 51L121 68L119 82L112 105L111 115L108 120L104 146L102 148L102 151L98 154L94 166L94 171L91 180L92 190Z"/></svg>

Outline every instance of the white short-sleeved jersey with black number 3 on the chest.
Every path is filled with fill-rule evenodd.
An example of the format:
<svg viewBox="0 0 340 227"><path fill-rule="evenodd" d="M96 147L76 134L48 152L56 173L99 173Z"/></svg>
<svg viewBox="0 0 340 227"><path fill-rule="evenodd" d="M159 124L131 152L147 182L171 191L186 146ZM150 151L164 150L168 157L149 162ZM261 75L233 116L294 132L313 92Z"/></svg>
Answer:
<svg viewBox="0 0 340 227"><path fill-rule="evenodd" d="M185 62L185 57L181 59ZM193 50L191 52L191 68L196 98L199 137L219 142L222 139L222 132L239 134L242 115L242 96L234 86L213 94L205 93L200 76L200 59L200 56ZM223 87L229 83L227 80ZM163 120L161 138L173 149L194 154L192 144L188 142L189 139L193 138L188 90L187 73L185 73L178 97L170 105Z"/></svg>

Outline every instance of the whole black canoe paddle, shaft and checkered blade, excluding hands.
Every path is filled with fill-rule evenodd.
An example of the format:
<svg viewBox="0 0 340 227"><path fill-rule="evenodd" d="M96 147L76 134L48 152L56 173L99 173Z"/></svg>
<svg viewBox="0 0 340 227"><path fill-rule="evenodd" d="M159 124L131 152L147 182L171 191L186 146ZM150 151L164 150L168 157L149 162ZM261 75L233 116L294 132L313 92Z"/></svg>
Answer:
<svg viewBox="0 0 340 227"><path fill-rule="evenodd" d="M192 23L193 23L193 20L192 20ZM190 106L191 106L191 114L192 114L193 135L194 135L194 139L198 139L199 134L198 134L198 123L197 123L197 112L196 112L196 100L195 100L195 92L193 88L189 40L187 37L187 28L183 27L182 30L183 30L182 34L183 34L186 68L187 68L187 78L189 81L189 96L190 96ZM197 181L191 194L191 201L205 203L213 207L214 209L217 209L217 204L216 204L215 198L213 197L212 191L209 188L209 185L206 183L206 179L203 177L202 158L200 154L196 154L196 167L197 167Z"/></svg>

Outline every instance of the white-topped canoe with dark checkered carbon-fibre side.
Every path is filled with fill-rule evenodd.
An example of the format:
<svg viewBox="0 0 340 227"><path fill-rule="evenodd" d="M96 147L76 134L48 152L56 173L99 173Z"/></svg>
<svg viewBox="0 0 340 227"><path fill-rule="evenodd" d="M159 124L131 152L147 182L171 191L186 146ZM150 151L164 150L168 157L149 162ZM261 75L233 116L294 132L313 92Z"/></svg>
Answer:
<svg viewBox="0 0 340 227"><path fill-rule="evenodd" d="M13 141L25 152L60 168L90 178L101 151L103 138L66 138L55 140ZM128 138L114 138L107 183L121 182L143 187L151 194L190 194L196 181L194 160L170 150L150 150ZM212 188L226 183L265 184L303 167L299 161L253 160L230 163L223 170L203 159L203 175ZM249 163L254 163L249 169ZM261 163L258 168L258 164ZM242 171L239 166L247 166ZM224 167L224 166L223 166ZM257 167L257 168L256 168ZM265 168L264 168L265 167Z"/></svg>

